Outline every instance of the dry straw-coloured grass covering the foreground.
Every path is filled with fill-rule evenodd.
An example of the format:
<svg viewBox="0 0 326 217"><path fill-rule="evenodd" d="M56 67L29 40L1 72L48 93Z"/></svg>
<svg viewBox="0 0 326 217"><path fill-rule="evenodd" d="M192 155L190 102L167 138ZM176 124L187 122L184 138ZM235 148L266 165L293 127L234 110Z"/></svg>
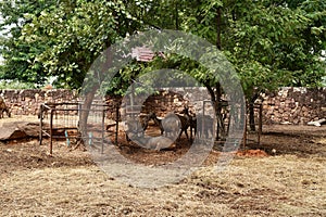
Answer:
<svg viewBox="0 0 326 217"><path fill-rule="evenodd" d="M326 159L236 158L223 173L140 189L96 166L15 170L2 177L2 216L325 216Z"/></svg>

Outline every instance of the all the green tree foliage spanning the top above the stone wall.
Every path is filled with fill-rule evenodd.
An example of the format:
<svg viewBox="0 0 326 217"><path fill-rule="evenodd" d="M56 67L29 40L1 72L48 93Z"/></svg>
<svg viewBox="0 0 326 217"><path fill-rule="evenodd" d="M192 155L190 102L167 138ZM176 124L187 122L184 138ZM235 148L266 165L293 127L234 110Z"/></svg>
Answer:
<svg viewBox="0 0 326 217"><path fill-rule="evenodd" d="M0 77L80 88L96 58L117 40L149 28L179 29L206 39L227 56L247 98L280 86L321 86L325 76L326 2L319 0L16 0L0 3L5 65ZM199 48L198 44L189 46ZM324 59L325 60L325 59ZM137 76L156 68L189 73L206 87L208 68L168 54L133 62L109 91L123 93ZM90 79L90 78L89 78Z"/></svg>

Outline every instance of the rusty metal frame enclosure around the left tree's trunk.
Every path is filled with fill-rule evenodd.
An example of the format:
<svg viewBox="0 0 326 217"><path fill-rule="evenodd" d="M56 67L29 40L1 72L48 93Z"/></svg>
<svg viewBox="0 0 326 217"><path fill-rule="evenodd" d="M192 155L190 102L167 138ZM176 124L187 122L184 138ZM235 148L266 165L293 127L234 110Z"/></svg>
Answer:
<svg viewBox="0 0 326 217"><path fill-rule="evenodd" d="M82 112L88 113L86 135L80 132ZM42 144L43 138L50 138L50 155L52 155L53 141L58 139L66 140L67 146L83 142L84 145L100 144L103 149L106 139L106 112L108 105L103 103L92 103L89 110L83 108L82 102L42 103L39 112L39 144ZM117 137L116 133L117 131L115 132Z"/></svg>

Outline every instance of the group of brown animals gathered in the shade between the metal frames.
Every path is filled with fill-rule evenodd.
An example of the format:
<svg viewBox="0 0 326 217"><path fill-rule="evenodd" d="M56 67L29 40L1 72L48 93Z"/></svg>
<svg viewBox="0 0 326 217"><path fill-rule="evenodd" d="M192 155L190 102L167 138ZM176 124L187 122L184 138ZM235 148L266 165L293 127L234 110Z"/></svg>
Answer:
<svg viewBox="0 0 326 217"><path fill-rule="evenodd" d="M145 131L149 126L149 122L153 120L159 127L161 136L146 138ZM213 136L214 119L209 115L195 115L189 112L187 106L180 114L167 113L164 118L159 118L154 112L151 112L139 118L130 118L126 122L126 139L127 141L136 140L150 149L161 150L179 140L184 133L188 141L197 138L209 138ZM190 136L188 130L190 129Z"/></svg>

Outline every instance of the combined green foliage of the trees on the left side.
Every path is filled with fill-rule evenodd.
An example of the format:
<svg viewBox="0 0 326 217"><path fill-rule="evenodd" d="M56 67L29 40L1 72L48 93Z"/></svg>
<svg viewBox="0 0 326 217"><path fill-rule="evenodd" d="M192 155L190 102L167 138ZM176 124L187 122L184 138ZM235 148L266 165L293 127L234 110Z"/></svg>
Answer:
<svg viewBox="0 0 326 217"><path fill-rule="evenodd" d="M3 2L1 13L2 26L14 25L1 50L2 78L43 82L55 76L64 88L79 88L99 53L139 26L121 0Z"/></svg>

